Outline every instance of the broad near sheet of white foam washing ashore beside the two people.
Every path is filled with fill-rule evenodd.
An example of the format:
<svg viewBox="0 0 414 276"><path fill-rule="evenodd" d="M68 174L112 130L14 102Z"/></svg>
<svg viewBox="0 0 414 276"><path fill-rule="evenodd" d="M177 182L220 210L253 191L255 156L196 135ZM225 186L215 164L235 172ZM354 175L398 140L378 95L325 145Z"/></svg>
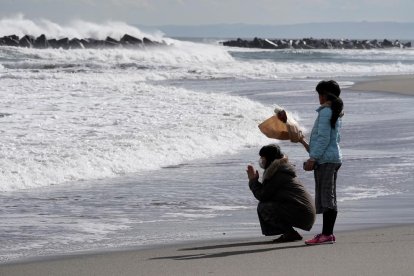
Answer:
<svg viewBox="0 0 414 276"><path fill-rule="evenodd" d="M14 95L0 100L12 114L2 119L1 189L113 177L260 143L257 123L271 109L135 76L3 80Z"/></svg>

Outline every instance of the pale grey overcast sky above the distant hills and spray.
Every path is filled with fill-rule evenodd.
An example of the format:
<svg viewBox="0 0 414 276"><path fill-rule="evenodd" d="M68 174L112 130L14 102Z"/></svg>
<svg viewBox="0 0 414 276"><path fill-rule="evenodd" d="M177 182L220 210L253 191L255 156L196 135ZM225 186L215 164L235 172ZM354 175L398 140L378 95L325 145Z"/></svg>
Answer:
<svg viewBox="0 0 414 276"><path fill-rule="evenodd" d="M138 25L309 22L414 22L413 0L0 0L0 18Z"/></svg>

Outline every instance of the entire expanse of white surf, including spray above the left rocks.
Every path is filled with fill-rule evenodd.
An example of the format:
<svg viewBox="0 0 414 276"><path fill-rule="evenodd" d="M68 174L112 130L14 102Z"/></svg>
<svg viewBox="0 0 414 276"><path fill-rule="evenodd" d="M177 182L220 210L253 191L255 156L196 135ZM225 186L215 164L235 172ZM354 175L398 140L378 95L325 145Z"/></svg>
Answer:
<svg viewBox="0 0 414 276"><path fill-rule="evenodd" d="M0 20L0 30L95 38L118 38L116 32L150 35L119 22L60 26L23 16ZM222 46L154 37L167 40L169 46L0 47L1 113L11 114L1 118L0 189L157 169L262 141L256 125L272 114L272 107L237 96L175 88L165 81L414 72L414 51L284 50L266 51L262 59L254 52L253 58L249 56L251 51L234 56L234 50Z"/></svg>

